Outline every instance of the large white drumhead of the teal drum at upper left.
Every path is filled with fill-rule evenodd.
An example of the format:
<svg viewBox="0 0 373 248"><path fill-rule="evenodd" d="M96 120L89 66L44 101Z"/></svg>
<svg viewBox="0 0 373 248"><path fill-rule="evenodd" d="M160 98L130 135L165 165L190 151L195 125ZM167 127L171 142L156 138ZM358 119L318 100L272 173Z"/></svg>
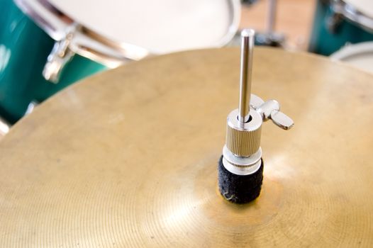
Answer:
<svg viewBox="0 0 373 248"><path fill-rule="evenodd" d="M238 0L50 0L96 33L155 53L224 45L240 18L232 2Z"/></svg>

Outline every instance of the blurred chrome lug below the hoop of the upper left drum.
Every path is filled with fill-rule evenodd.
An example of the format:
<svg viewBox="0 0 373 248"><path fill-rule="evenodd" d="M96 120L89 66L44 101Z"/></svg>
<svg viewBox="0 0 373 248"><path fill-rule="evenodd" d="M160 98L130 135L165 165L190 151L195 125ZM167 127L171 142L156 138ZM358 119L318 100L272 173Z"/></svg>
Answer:
<svg viewBox="0 0 373 248"><path fill-rule="evenodd" d="M75 54L69 48L73 36L72 31L67 33L64 39L56 41L52 52L48 55L47 63L43 69L43 77L53 84L58 83L62 69Z"/></svg>

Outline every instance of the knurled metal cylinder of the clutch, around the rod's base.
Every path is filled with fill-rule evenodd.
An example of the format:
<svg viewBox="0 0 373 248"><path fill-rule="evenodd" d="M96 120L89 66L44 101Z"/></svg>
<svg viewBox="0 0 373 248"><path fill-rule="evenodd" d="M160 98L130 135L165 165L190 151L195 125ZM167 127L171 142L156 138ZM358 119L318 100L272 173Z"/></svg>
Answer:
<svg viewBox="0 0 373 248"><path fill-rule="evenodd" d="M251 120L243 126L238 121L238 109L230 112L227 118L226 146L239 157L249 157L260 148L262 116L250 110Z"/></svg>

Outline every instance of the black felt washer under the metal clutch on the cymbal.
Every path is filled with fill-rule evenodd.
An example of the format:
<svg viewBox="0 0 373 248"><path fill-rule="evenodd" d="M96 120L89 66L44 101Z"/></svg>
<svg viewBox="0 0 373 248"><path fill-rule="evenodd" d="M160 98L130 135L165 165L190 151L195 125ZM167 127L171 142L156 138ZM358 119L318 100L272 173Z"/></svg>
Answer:
<svg viewBox="0 0 373 248"><path fill-rule="evenodd" d="M260 195L263 181L263 159L255 173L240 176L231 173L223 166L223 156L218 164L218 184L221 195L233 203L249 203Z"/></svg>

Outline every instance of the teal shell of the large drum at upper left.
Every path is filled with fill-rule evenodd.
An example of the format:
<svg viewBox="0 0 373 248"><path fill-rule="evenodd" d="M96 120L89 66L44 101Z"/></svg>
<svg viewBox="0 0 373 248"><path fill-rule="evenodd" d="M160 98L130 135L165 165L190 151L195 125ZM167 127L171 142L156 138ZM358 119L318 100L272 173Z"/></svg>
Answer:
<svg viewBox="0 0 373 248"><path fill-rule="evenodd" d="M15 123L31 101L42 102L69 84L106 67L74 55L57 84L43 77L55 40L11 0L0 0L0 115Z"/></svg>

